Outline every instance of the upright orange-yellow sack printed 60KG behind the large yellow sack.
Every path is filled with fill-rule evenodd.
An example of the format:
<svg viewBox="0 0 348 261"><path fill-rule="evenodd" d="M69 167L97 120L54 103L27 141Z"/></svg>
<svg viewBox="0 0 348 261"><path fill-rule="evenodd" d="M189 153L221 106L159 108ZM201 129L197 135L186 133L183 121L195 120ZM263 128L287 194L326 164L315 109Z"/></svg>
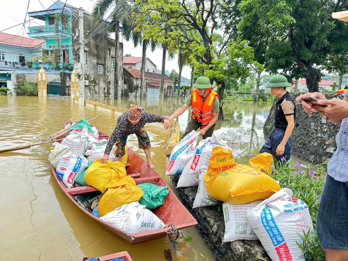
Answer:
<svg viewBox="0 0 348 261"><path fill-rule="evenodd" d="M219 146L213 147L213 155L209 159L207 173L216 175L236 165L232 151Z"/></svg>

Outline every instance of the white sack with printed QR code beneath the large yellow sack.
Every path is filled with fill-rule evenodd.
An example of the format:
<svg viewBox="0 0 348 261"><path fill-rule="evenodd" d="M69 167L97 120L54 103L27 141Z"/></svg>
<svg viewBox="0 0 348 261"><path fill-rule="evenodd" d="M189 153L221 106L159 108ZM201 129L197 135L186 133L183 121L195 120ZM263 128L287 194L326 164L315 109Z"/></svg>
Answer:
<svg viewBox="0 0 348 261"><path fill-rule="evenodd" d="M223 242L231 242L238 239L258 239L251 225L246 220L246 214L250 213L260 203L261 200L242 205L234 205L227 202L222 204L223 219L225 221Z"/></svg>

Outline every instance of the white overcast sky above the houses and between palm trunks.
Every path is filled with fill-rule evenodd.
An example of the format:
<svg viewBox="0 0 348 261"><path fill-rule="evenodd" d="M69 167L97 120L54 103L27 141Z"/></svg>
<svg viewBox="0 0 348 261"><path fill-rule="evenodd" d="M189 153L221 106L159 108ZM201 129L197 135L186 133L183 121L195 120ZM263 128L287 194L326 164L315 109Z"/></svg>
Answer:
<svg viewBox="0 0 348 261"><path fill-rule="evenodd" d="M61 0L61 1L65 2L64 0ZM28 21L30 20L29 16L26 15L28 0L14 0L14 1L0 0L0 2L1 2L1 10L2 10L0 15L0 31L7 29L11 26L14 26L16 24L23 23L24 19L26 19L25 27L23 27L23 24L21 24L2 32L28 37L27 31L29 26L37 26L37 25L43 24L43 21L39 19L33 19L31 21ZM40 11L40 10L47 9L48 7L53 5L54 2L55 2L54 0L29 0L28 11L31 12L31 11ZM75 7L83 7L87 12L92 11L93 6L96 2L97 2L96 0L67 0L66 1L68 5L75 6ZM124 54L129 53L135 57L142 56L141 46L134 48L133 43L126 42L124 39L122 40L122 42L124 43L123 45ZM150 50L148 50L146 55L150 58L152 62L156 64L158 69L162 68L162 50L161 49L156 49L155 52L151 52ZM179 68L177 66L177 58L174 60L166 61L166 70L171 71L172 69L175 69L177 72L179 71ZM182 71L182 75L189 79L190 68L185 67Z"/></svg>

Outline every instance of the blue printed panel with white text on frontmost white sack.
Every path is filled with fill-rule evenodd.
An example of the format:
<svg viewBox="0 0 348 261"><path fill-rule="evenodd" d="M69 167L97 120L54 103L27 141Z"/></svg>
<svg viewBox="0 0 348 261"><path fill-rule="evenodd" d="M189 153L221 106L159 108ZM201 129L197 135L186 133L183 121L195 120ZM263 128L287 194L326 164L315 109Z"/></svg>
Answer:
<svg viewBox="0 0 348 261"><path fill-rule="evenodd" d="M272 212L268 206L264 207L263 211L261 212L261 222L274 246L279 246L285 243L284 237L274 221Z"/></svg>

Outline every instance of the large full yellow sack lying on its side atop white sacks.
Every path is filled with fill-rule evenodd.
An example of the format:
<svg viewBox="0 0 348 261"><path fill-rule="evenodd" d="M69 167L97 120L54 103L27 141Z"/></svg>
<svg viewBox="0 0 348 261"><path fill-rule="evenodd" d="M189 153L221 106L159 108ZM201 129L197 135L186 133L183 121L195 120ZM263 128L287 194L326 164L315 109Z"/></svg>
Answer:
<svg viewBox="0 0 348 261"><path fill-rule="evenodd" d="M213 198L236 205L267 199L280 190L270 176L244 164L214 176L206 173L204 181Z"/></svg>

